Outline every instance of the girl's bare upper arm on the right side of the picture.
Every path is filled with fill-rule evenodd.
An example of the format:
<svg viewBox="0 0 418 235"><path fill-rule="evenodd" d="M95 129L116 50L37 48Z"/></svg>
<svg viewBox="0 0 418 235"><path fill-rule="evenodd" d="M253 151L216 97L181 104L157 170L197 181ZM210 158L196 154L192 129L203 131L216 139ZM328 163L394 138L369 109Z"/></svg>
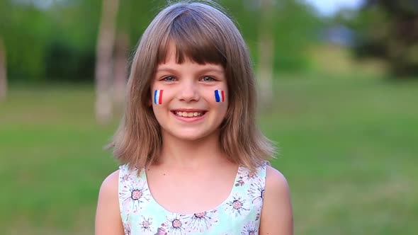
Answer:
<svg viewBox="0 0 418 235"><path fill-rule="evenodd" d="M286 178L267 166L260 235L292 235L293 213Z"/></svg>

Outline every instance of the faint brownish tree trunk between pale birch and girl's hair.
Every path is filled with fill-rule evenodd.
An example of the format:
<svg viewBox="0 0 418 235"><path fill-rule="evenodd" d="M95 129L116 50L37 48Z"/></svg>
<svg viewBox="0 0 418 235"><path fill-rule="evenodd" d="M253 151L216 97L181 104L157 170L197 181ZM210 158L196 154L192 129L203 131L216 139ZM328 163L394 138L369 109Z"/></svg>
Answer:
<svg viewBox="0 0 418 235"><path fill-rule="evenodd" d="M128 47L128 34L118 33L115 42L115 80L113 81L113 98L115 110L118 112L123 110L125 103L125 86L128 81Z"/></svg>

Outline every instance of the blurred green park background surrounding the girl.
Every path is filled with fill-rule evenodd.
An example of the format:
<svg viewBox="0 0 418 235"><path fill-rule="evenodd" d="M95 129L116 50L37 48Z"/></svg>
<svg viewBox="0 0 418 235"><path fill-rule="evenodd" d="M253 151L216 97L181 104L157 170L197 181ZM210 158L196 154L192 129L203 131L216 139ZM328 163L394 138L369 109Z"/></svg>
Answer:
<svg viewBox="0 0 418 235"><path fill-rule="evenodd" d="M337 2L218 1L254 59L295 234L415 234L418 3L317 8ZM0 234L93 234L129 61L165 4L0 1Z"/></svg>

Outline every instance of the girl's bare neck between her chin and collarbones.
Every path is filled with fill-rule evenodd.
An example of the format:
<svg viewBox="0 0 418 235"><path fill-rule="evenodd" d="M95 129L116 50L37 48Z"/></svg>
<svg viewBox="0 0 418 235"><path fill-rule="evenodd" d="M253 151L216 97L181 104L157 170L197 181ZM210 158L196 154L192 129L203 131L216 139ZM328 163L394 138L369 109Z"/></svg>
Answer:
<svg viewBox="0 0 418 235"><path fill-rule="evenodd" d="M162 153L159 164L196 168L225 161L219 143L219 134L210 134L196 140L184 140L162 134Z"/></svg>

